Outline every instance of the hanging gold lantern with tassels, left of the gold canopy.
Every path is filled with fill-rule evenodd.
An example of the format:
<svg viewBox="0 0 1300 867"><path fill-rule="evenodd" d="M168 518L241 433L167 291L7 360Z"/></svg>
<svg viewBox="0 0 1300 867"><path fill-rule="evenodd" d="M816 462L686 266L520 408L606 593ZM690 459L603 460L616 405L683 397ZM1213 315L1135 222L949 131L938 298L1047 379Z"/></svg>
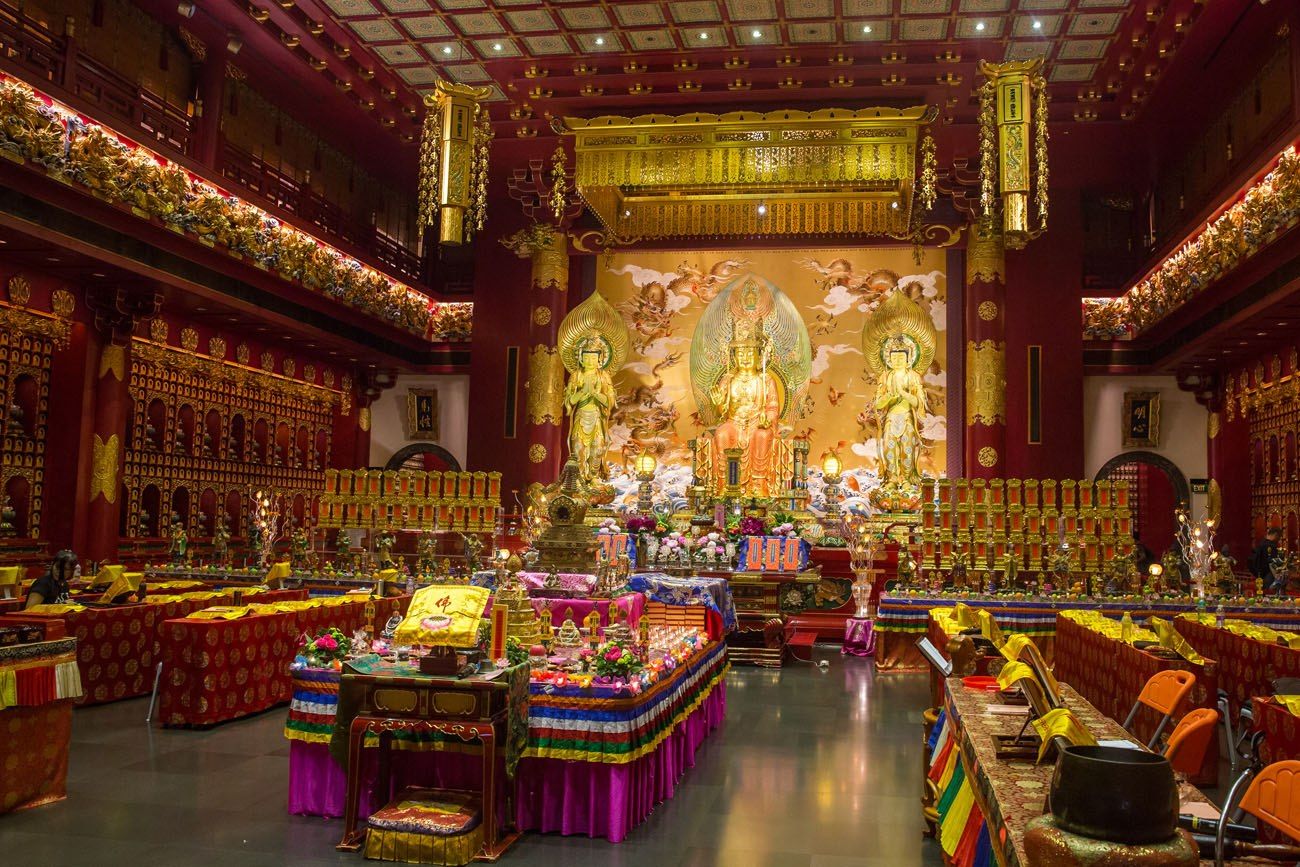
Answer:
<svg viewBox="0 0 1300 867"><path fill-rule="evenodd" d="M425 96L420 142L420 225L438 227L438 243L459 246L486 220L491 125L480 101L491 91L439 81Z"/></svg>

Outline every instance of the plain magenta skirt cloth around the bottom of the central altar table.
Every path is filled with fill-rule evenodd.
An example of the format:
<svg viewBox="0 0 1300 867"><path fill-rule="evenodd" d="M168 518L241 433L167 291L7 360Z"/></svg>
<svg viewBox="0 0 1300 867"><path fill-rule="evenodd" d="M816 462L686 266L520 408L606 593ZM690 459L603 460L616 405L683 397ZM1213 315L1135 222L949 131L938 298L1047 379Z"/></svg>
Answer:
<svg viewBox="0 0 1300 867"><path fill-rule="evenodd" d="M727 684L719 682L649 755L627 764L524 758L515 776L515 822L521 831L586 835L620 842L645 822L655 805L673 796L677 783L696 764L696 751L727 716ZM373 760L373 751L367 750ZM476 786L477 755L400 753L393 762L394 790L411 784ZM370 762L363 777L373 780ZM346 773L325 744L289 745L289 811L342 816ZM364 785L369 792L372 786ZM503 796L504 797L504 796ZM363 803L369 814L387 798L376 793ZM500 814L498 814L500 815Z"/></svg>

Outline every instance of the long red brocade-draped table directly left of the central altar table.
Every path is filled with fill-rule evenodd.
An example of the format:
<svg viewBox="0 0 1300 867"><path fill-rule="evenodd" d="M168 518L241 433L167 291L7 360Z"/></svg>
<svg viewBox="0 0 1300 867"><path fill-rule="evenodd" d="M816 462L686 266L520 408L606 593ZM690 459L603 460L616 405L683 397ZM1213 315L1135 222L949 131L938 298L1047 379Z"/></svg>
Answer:
<svg viewBox="0 0 1300 867"><path fill-rule="evenodd" d="M378 634L411 597L374 599ZM235 620L168 620L162 625L164 725L214 725L290 699L289 666L299 638L335 627L344 634L367 625L368 599L304 611L255 614Z"/></svg>

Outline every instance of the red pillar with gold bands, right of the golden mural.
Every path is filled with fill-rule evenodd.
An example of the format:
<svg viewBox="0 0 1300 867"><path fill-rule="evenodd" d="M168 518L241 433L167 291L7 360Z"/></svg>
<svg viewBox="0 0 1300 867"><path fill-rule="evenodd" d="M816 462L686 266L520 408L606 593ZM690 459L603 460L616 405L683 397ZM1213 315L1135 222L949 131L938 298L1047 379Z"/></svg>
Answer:
<svg viewBox="0 0 1300 867"><path fill-rule="evenodd" d="M967 478L1006 474L1006 257L996 220L971 224L966 244Z"/></svg>

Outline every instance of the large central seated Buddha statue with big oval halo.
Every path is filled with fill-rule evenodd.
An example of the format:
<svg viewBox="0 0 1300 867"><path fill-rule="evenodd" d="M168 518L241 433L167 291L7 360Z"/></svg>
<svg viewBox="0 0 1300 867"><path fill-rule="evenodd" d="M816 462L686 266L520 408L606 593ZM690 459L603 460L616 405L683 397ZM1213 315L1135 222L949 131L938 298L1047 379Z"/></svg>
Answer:
<svg viewBox="0 0 1300 867"><path fill-rule="evenodd" d="M715 497L771 498L788 489L790 430L783 422L810 368L807 328L775 286L745 277L710 302L692 339L690 378L708 425L701 438L707 460L697 465ZM738 477L728 477L729 450L738 450Z"/></svg>

